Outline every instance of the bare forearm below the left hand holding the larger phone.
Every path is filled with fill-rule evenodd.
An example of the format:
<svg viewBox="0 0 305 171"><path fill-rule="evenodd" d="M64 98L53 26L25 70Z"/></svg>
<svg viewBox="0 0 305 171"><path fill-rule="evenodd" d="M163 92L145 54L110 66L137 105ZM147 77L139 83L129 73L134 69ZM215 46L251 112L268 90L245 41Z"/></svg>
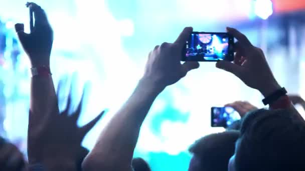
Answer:
<svg viewBox="0 0 305 171"><path fill-rule="evenodd" d="M149 80L139 81L133 94L103 129L84 168L131 170L131 160L141 124L155 98L164 88ZM98 160L92 162L92 160ZM91 160L91 161L90 161Z"/></svg>

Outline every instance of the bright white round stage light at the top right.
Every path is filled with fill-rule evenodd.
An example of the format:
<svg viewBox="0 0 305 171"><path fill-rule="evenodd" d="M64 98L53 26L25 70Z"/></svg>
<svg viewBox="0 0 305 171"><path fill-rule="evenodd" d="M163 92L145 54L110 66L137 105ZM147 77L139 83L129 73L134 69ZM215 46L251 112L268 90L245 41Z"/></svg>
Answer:
<svg viewBox="0 0 305 171"><path fill-rule="evenodd" d="M267 19L272 13L272 1L271 0L255 0L254 12L262 19Z"/></svg>

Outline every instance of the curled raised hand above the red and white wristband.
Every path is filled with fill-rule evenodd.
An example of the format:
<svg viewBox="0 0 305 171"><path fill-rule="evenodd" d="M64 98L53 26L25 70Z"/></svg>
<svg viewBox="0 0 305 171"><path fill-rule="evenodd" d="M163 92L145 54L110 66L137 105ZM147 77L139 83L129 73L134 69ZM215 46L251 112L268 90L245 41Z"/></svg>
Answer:
<svg viewBox="0 0 305 171"><path fill-rule="evenodd" d="M50 54L53 43L53 30L45 11L36 3L27 3L35 16L35 25L31 33L24 32L24 24L17 23L15 29L19 40L29 55L32 66L50 65Z"/></svg>

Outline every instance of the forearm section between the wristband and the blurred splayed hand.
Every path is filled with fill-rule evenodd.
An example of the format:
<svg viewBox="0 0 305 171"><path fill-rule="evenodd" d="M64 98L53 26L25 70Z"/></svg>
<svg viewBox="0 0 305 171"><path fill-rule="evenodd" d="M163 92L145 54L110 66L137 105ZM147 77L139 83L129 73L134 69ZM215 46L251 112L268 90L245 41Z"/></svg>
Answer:
<svg viewBox="0 0 305 171"><path fill-rule="evenodd" d="M56 92L52 76L36 75L31 80L31 104L32 113L43 115L51 107L57 104Z"/></svg>

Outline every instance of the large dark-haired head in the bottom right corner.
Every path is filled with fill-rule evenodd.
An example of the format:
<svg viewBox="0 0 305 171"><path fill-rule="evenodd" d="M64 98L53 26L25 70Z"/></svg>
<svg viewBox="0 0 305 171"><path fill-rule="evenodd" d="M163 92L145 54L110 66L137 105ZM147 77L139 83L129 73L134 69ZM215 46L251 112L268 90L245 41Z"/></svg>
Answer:
<svg viewBox="0 0 305 171"><path fill-rule="evenodd" d="M241 125L236 170L305 170L304 142L304 123L291 110L253 111Z"/></svg>

